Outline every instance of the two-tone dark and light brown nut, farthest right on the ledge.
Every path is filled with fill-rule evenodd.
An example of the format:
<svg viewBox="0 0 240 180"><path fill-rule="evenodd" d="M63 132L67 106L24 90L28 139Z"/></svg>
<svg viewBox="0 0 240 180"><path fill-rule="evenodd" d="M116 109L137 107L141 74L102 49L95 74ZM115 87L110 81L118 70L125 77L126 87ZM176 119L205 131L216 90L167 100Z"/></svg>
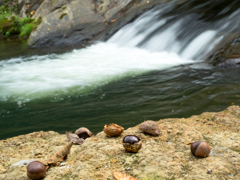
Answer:
<svg viewBox="0 0 240 180"><path fill-rule="evenodd" d="M206 157L211 152L211 148L208 143L204 141L196 141L191 144L191 152L197 157Z"/></svg>

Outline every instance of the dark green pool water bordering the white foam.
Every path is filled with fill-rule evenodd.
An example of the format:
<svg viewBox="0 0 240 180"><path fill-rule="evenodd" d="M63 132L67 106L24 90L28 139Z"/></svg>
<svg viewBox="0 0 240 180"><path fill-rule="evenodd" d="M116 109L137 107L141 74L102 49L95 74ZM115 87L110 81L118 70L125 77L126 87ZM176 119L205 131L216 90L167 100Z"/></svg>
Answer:
<svg viewBox="0 0 240 180"><path fill-rule="evenodd" d="M14 46L10 46L14 49ZM22 54L34 51L21 49ZM9 58L12 51L5 46ZM7 52L8 51L8 52ZM1 62L1 61L0 61ZM0 139L33 131L75 131L87 127L93 133L117 123L124 128L144 120L181 118L205 111L221 111L240 104L240 72L237 68L213 68L203 63L155 70L115 80L87 93L60 98L37 98L18 104L0 102Z"/></svg>

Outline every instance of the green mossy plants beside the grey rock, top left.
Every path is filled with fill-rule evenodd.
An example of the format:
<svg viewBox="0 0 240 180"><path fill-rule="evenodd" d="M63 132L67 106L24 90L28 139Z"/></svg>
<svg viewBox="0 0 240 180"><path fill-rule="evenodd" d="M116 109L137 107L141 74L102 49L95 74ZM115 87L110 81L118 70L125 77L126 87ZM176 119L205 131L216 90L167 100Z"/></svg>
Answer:
<svg viewBox="0 0 240 180"><path fill-rule="evenodd" d="M0 32L3 36L19 35L20 38L28 38L40 23L41 19L21 18L5 6L0 6Z"/></svg>

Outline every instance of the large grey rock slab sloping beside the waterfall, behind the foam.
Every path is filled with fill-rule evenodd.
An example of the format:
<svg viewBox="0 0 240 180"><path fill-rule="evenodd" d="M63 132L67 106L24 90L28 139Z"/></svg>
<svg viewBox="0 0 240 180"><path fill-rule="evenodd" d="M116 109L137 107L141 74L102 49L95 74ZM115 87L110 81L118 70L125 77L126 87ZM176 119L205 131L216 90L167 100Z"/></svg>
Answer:
<svg viewBox="0 0 240 180"><path fill-rule="evenodd" d="M109 35L156 4L171 0L45 0L33 18L42 23L31 33L28 45L69 46ZM101 34L101 35L100 35Z"/></svg>

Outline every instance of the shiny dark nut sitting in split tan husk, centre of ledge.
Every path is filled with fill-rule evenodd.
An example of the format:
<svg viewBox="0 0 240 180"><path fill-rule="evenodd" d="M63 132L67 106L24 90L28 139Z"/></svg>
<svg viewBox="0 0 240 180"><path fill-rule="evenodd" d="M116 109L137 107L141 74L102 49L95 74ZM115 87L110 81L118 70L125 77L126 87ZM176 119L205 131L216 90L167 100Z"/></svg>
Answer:
<svg viewBox="0 0 240 180"><path fill-rule="evenodd" d="M137 153L142 147L142 141L135 135L127 135L123 138L123 147L127 152Z"/></svg>

